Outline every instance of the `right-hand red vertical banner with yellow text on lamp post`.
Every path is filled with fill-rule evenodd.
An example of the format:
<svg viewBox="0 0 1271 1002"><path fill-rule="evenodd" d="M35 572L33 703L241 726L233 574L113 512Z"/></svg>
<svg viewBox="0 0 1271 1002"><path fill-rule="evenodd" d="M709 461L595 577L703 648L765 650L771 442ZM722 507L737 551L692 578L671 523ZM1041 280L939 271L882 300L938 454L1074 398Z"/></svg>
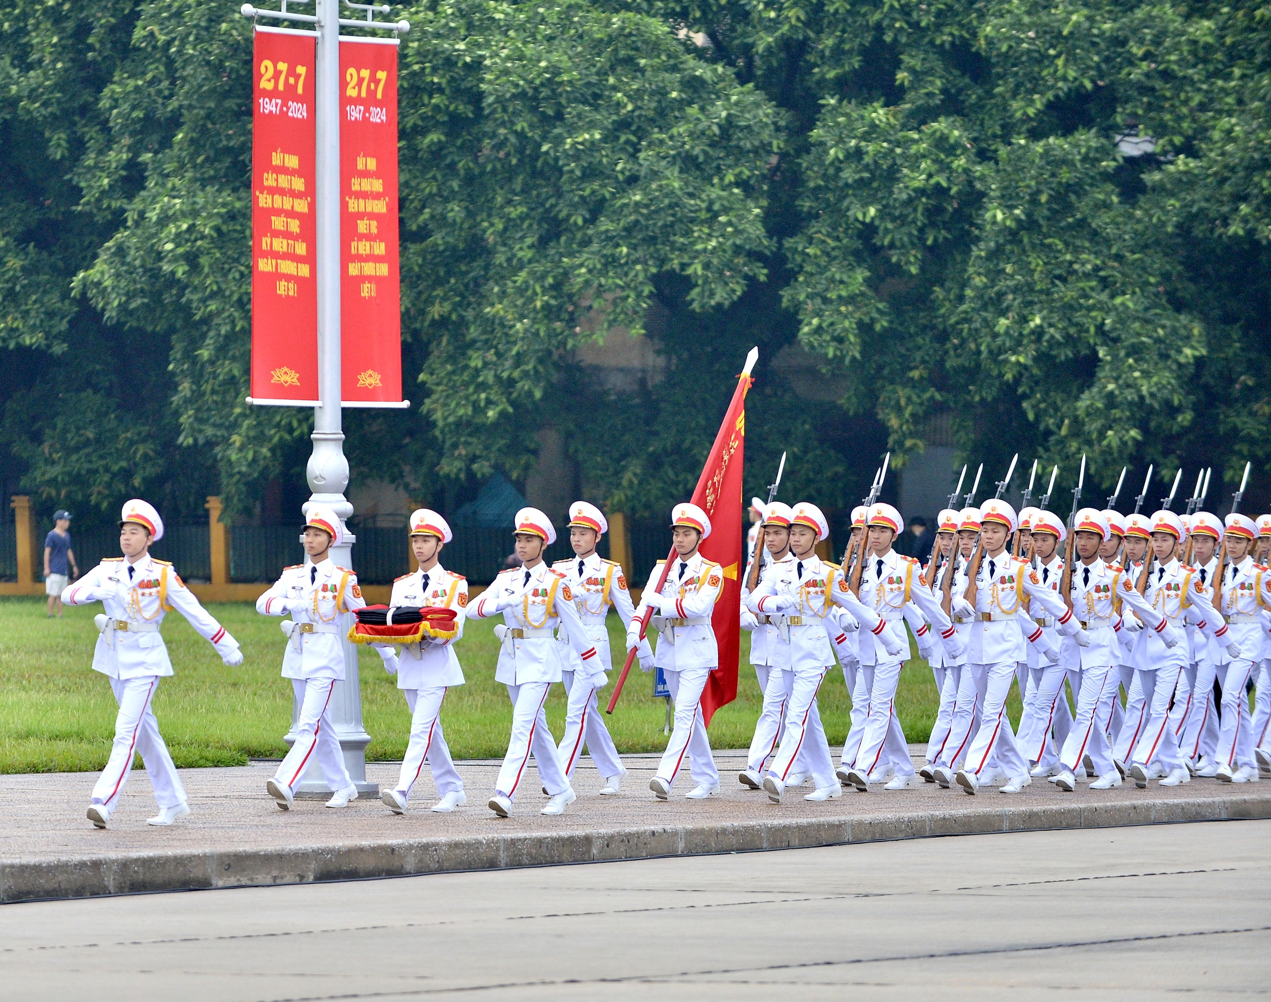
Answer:
<svg viewBox="0 0 1271 1002"><path fill-rule="evenodd" d="M339 39L341 398L402 399L397 42Z"/></svg>

